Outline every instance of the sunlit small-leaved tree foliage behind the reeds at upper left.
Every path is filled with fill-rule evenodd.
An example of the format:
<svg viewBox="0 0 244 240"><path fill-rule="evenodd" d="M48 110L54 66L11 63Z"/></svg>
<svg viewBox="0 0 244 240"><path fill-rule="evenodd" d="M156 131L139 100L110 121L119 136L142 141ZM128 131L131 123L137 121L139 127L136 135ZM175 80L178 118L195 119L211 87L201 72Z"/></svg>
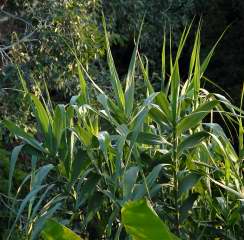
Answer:
<svg viewBox="0 0 244 240"><path fill-rule="evenodd" d="M33 93L44 90L48 85L52 96L60 101L77 91L75 58L70 46L75 46L84 65L104 53L103 37L96 24L96 1L20 1L15 4L20 8L19 12L20 6L24 8L23 19L9 18L12 24L20 23L19 30L25 30L13 33L12 42L11 36L5 36L9 48L5 51L8 57L4 58L0 76L0 98L13 96L3 101L1 113L5 116L14 115L16 109L22 107L19 104L22 96L9 89L19 88L16 64ZM94 65L94 74L98 70ZM24 108L24 111L27 109ZM21 118L27 121L26 116Z"/></svg>

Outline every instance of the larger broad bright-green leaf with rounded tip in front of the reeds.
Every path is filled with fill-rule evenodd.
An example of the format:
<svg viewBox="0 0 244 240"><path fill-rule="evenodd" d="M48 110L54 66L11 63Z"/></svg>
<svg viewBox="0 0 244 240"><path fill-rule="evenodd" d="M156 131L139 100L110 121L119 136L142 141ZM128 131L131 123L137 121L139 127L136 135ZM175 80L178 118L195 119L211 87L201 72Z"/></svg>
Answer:
<svg viewBox="0 0 244 240"><path fill-rule="evenodd" d="M147 200L126 203L121 214L122 223L133 240L178 239L161 221Z"/></svg>

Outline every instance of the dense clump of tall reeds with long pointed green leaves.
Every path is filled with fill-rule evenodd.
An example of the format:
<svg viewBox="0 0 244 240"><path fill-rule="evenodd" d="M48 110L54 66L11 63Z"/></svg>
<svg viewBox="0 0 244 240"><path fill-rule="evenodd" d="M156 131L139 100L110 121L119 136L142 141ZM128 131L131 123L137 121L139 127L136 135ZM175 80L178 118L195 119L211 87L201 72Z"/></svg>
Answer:
<svg viewBox="0 0 244 240"><path fill-rule="evenodd" d="M188 78L181 82L179 59L189 31L190 27L185 29L176 56L170 57L169 77L165 72L165 38L160 92L150 83L138 42L122 86L106 31L113 97L91 79L75 52L80 93L69 104L53 108L44 98L40 101L31 94L22 79L38 125L33 136L12 121L3 122L22 139L12 151L9 166L4 202L12 211L6 213L9 225L5 238L20 235L36 239L41 232L48 239L54 231L51 226L62 229L56 222L45 225L55 217L89 239L128 239L126 231L134 239L160 239L161 235L165 239L176 239L175 235L181 239L241 239L242 111L224 96L201 88L216 45L200 61L200 30ZM137 67L144 79L144 99L135 95ZM91 81L96 99L91 98L94 95L90 95L83 74ZM239 122L239 153L214 122L216 112L230 124ZM13 176L21 155L30 167L16 192ZM143 198L149 199L164 223L151 212L149 203L136 202ZM150 233L146 228L149 223L139 217L140 210L155 221L158 236L156 230ZM140 233L142 224L146 225ZM78 235L73 235L74 239Z"/></svg>

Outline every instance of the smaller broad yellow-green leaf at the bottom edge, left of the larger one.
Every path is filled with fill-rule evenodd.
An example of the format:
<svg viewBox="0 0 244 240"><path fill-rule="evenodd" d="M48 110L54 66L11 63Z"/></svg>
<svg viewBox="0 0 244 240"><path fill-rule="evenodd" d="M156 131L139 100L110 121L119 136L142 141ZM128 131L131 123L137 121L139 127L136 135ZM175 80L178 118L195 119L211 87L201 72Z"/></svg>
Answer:
<svg viewBox="0 0 244 240"><path fill-rule="evenodd" d="M44 240L81 240L69 228L51 219L47 220L41 235Z"/></svg>

